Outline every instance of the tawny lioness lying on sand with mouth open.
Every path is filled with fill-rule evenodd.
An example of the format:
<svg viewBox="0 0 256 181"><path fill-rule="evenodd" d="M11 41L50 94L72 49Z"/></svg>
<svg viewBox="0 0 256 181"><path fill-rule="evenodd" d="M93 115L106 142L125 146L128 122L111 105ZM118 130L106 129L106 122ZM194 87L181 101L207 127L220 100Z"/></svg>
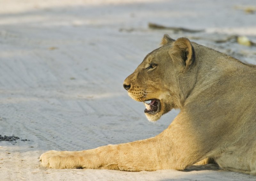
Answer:
<svg viewBox="0 0 256 181"><path fill-rule="evenodd" d="M152 171L184 170L214 160L223 169L256 175L253 65L165 34L162 46L124 80L124 88L144 102L151 121L173 108L180 113L153 138L85 151L48 151L40 156L42 165Z"/></svg>

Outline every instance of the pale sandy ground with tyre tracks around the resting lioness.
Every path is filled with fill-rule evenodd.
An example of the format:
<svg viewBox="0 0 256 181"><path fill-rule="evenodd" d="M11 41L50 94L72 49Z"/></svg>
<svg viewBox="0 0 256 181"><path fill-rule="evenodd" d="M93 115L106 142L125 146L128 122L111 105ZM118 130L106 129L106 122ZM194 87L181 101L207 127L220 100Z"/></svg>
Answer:
<svg viewBox="0 0 256 181"><path fill-rule="evenodd" d="M178 110L155 124L144 105L122 87L164 33L256 63L254 0L39 1L0 0L0 180L256 180L255 176L198 165L186 171L65 169L40 166L46 150L83 150L153 137ZM153 30L148 23L204 29Z"/></svg>

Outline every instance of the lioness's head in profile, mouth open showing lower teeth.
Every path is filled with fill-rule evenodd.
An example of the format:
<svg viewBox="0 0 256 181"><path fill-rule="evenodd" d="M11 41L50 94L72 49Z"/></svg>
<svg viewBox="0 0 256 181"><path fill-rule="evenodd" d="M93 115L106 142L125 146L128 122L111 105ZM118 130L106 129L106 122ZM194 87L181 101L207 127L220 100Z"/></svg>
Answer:
<svg viewBox="0 0 256 181"><path fill-rule="evenodd" d="M161 44L124 80L128 95L144 102L144 112L150 121L173 108L182 108L196 82L197 66L190 41L175 41L165 34Z"/></svg>

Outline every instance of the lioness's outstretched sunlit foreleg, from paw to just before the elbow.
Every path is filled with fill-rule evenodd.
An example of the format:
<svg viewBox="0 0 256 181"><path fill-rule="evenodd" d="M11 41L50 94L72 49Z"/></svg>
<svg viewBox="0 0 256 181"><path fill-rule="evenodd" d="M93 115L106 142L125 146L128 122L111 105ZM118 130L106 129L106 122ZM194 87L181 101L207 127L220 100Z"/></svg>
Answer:
<svg viewBox="0 0 256 181"><path fill-rule="evenodd" d="M84 151L48 151L40 156L40 160L42 166L56 169L157 170L162 169L158 148L157 139L149 138Z"/></svg>

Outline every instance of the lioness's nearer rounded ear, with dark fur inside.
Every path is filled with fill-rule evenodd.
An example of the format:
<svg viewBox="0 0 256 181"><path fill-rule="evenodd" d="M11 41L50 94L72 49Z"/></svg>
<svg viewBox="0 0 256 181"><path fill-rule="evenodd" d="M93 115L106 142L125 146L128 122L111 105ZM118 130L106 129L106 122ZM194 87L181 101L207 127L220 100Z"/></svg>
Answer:
<svg viewBox="0 0 256 181"><path fill-rule="evenodd" d="M193 47L187 38L178 38L172 44L170 55L174 63L181 63L185 71L193 63Z"/></svg>

